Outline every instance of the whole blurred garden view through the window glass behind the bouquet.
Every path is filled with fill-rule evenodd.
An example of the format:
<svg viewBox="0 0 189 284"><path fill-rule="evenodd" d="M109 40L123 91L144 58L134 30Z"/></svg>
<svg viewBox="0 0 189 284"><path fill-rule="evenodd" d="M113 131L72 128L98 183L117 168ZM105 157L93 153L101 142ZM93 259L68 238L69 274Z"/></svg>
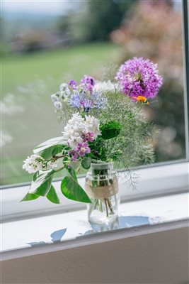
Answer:
<svg viewBox="0 0 189 284"><path fill-rule="evenodd" d="M180 0L6 1L1 11L1 185L38 143L60 136L50 94L133 56L159 65L164 84L146 109L159 134L156 163L185 158Z"/></svg>

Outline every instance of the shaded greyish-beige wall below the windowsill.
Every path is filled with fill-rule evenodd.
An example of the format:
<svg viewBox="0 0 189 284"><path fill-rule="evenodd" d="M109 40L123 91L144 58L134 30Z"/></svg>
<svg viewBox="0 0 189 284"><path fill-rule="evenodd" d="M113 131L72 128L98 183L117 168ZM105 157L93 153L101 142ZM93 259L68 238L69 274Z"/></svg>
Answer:
<svg viewBox="0 0 189 284"><path fill-rule="evenodd" d="M188 228L1 262L4 283L189 283Z"/></svg>

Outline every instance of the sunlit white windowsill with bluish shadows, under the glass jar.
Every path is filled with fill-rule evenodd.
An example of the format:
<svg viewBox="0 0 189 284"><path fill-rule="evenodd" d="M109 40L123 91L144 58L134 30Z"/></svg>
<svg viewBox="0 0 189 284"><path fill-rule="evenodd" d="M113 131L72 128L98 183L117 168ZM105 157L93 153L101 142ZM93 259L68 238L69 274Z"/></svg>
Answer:
<svg viewBox="0 0 189 284"><path fill-rule="evenodd" d="M1 261L188 226L188 193L125 202L119 212L109 227L91 227L86 210L5 222Z"/></svg>

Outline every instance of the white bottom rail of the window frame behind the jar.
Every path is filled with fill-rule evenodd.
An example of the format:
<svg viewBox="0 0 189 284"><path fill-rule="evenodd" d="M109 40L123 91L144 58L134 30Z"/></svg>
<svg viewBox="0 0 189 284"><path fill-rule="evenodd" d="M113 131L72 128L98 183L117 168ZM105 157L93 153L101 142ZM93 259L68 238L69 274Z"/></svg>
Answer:
<svg viewBox="0 0 189 284"><path fill-rule="evenodd" d="M189 163L179 162L168 165L154 164L149 165L148 168L140 168L136 172L137 190L129 188L124 179L120 178L119 190L122 202L188 191ZM84 178L79 178L79 183L84 186ZM45 197L31 202L20 202L28 192L29 185L0 190L1 220L9 222L18 218L38 217L41 214L57 214L85 208L85 204L68 200L62 195L59 181L55 181L53 185L61 204L52 204Z"/></svg>

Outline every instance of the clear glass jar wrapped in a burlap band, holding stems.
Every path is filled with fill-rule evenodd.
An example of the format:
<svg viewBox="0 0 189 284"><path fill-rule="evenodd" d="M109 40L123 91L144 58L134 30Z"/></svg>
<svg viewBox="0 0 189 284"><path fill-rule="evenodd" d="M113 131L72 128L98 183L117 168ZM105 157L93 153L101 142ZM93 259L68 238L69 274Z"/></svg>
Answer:
<svg viewBox="0 0 189 284"><path fill-rule="evenodd" d="M91 202L87 204L88 221L108 224L118 217L118 176L113 163L91 163L86 174L85 189Z"/></svg>

